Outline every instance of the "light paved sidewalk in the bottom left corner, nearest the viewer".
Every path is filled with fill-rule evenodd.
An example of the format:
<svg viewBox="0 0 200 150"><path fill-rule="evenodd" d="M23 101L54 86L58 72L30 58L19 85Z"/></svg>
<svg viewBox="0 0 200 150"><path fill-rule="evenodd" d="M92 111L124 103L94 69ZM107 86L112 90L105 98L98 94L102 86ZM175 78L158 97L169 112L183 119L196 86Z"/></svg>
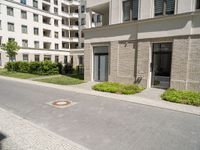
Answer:
<svg viewBox="0 0 200 150"><path fill-rule="evenodd" d="M88 150L0 108L0 150Z"/></svg>

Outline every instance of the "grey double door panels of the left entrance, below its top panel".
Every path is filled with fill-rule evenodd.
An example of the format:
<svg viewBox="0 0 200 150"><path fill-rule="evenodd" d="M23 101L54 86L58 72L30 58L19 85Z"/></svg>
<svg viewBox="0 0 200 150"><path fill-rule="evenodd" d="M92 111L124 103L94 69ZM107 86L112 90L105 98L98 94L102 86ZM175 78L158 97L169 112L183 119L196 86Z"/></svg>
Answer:
<svg viewBox="0 0 200 150"><path fill-rule="evenodd" d="M94 55L94 81L108 81L108 54Z"/></svg>

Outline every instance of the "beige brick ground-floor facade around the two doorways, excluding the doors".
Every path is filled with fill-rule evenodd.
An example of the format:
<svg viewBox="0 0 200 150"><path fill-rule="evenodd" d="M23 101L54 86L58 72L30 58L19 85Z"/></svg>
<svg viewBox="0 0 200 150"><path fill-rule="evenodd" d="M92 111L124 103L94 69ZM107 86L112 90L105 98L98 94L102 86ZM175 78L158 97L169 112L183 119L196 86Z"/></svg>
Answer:
<svg viewBox="0 0 200 150"><path fill-rule="evenodd" d="M151 87L152 44L171 42L170 87L200 91L200 36L180 36L109 43L108 81ZM91 81L93 45L85 44L85 80Z"/></svg>

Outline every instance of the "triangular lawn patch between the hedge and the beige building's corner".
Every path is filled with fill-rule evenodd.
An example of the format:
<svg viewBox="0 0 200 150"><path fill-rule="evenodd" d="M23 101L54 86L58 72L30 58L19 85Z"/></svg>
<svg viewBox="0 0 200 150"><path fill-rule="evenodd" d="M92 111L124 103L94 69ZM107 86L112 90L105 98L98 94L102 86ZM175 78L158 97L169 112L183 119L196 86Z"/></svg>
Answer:
<svg viewBox="0 0 200 150"><path fill-rule="evenodd" d="M59 84L59 85L76 85L84 83L83 77L79 75L70 75L70 76L60 75L56 77L38 79L36 81Z"/></svg>

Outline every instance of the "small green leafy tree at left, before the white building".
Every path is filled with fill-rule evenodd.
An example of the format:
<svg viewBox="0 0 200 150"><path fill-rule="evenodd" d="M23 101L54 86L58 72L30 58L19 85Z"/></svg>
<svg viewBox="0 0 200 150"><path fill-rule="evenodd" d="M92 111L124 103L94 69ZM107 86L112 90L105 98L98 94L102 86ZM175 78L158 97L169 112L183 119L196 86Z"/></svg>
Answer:
<svg viewBox="0 0 200 150"><path fill-rule="evenodd" d="M2 44L2 50L6 51L7 56L13 61L13 57L17 55L17 51L20 50L20 46L14 40L8 41L5 44Z"/></svg>

